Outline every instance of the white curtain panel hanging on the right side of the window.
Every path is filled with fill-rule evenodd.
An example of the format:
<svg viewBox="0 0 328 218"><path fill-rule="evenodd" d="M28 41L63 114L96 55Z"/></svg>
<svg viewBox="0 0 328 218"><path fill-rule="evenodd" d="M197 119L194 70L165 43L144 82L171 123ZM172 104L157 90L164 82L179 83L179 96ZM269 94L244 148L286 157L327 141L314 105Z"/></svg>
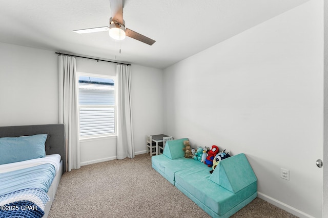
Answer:
<svg viewBox="0 0 328 218"><path fill-rule="evenodd" d="M134 158L132 109L131 109L131 67L116 65L117 76L117 159Z"/></svg>

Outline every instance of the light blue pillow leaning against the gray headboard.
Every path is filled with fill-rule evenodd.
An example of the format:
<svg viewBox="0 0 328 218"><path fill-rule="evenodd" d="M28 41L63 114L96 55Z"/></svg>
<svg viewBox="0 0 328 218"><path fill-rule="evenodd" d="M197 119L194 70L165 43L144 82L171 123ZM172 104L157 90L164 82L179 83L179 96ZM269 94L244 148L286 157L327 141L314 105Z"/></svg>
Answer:
<svg viewBox="0 0 328 218"><path fill-rule="evenodd" d="M0 138L0 164L46 156L47 134Z"/></svg>

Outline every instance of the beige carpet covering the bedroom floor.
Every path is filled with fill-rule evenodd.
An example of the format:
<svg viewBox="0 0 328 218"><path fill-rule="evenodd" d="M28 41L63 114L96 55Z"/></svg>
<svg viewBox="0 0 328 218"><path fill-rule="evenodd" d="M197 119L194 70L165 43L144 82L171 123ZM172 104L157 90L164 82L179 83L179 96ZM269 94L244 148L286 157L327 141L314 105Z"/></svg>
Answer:
<svg viewBox="0 0 328 218"><path fill-rule="evenodd" d="M82 166L63 175L52 217L210 217L151 167L151 157ZM256 198L232 217L296 217Z"/></svg>

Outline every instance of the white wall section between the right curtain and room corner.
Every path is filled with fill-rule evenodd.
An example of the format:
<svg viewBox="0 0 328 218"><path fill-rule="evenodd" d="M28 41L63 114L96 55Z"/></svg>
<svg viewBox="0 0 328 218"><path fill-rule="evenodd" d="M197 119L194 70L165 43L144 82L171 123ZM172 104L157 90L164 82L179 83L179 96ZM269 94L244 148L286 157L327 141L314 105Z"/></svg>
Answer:
<svg viewBox="0 0 328 218"><path fill-rule="evenodd" d="M146 135L163 133L163 70L133 64L132 116L135 153L146 153Z"/></svg>

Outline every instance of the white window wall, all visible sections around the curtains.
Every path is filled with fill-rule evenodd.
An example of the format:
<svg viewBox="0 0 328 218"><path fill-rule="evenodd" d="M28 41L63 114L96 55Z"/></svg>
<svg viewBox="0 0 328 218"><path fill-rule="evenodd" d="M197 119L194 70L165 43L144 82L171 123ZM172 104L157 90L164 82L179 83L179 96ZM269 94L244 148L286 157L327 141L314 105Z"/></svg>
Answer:
<svg viewBox="0 0 328 218"><path fill-rule="evenodd" d="M0 126L58 123L58 60L54 51L0 43ZM79 72L116 75L116 64L76 59ZM162 133L162 70L132 65L135 154L146 134ZM116 158L116 137L80 142L81 164Z"/></svg>

